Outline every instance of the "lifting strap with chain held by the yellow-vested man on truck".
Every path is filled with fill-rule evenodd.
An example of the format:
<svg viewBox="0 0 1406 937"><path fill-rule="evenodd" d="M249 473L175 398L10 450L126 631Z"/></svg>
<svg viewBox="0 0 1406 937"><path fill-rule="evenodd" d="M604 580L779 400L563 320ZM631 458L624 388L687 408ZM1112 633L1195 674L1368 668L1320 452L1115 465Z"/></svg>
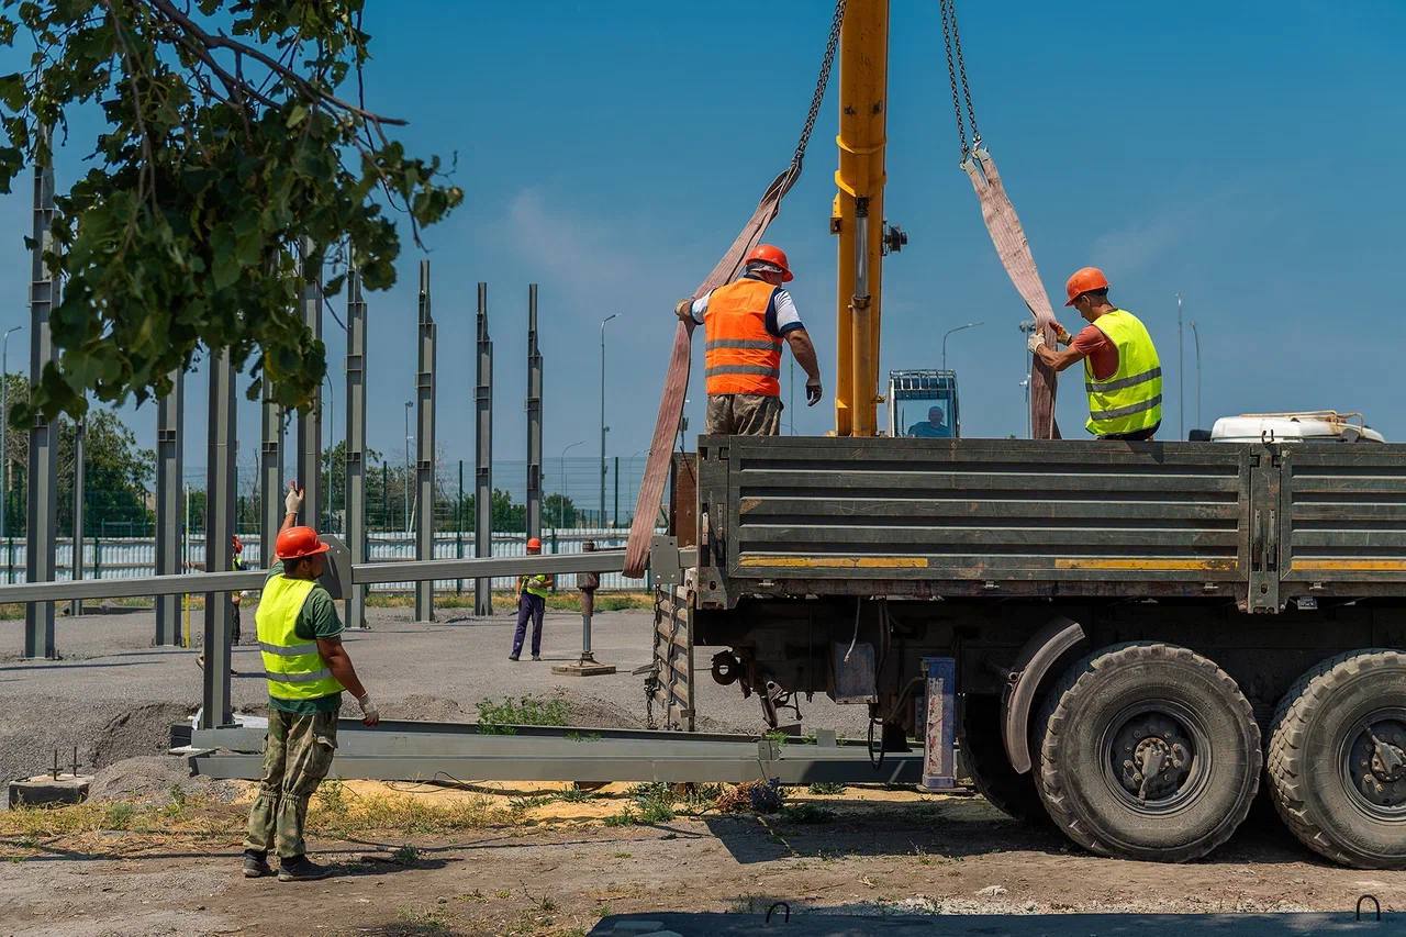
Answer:
<svg viewBox="0 0 1406 937"><path fill-rule="evenodd" d="M957 30L956 0L942 0L942 39L948 55L948 79L952 83L952 110L957 121L957 139L962 145L962 170L972 179L977 201L981 204L981 219L995 245L995 253L1005 267L1015 291L1025 300L1025 307L1035 317L1035 328L1045 333L1045 343L1054 348L1054 310L1040 280L1031 242L1025 236L1015 205L1005 193L995 160L981 144L981 131L976 125L976 107L972 104L972 89L967 84L966 59L962 56L962 34ZM960 84L960 89L959 89ZM966 114L962 113L962 98ZM967 125L972 128L972 142L967 144ZM1056 376L1054 369L1039 357L1031 356L1031 436L1035 439L1059 439L1059 423L1054 422Z"/></svg>

